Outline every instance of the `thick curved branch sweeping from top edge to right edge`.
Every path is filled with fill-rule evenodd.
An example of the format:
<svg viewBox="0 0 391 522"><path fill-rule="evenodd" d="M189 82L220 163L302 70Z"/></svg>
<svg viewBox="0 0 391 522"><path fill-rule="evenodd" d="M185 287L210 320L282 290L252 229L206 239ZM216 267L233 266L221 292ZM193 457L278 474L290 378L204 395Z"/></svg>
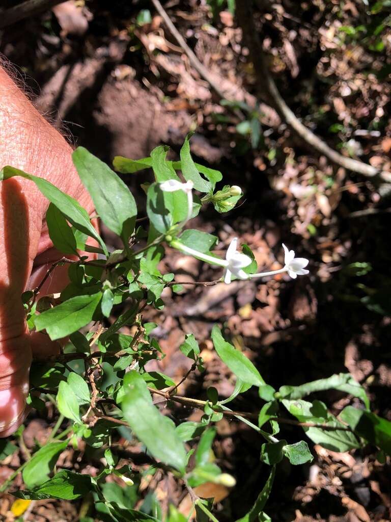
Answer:
<svg viewBox="0 0 391 522"><path fill-rule="evenodd" d="M357 172L366 177L379 176L386 182L391 182L391 173L381 171L352 158L346 158L329 147L319 136L316 136L310 129L304 126L292 112L285 100L279 93L277 86L272 78L265 61L262 42L259 38L259 31L256 30L252 2L238 2L236 6L236 16L238 24L242 29L243 38L250 51L252 63L254 65L255 77L262 93L266 95L268 102L277 111L279 116L290 128L306 143L311 145L317 152L320 152L333 163L347 170Z"/></svg>

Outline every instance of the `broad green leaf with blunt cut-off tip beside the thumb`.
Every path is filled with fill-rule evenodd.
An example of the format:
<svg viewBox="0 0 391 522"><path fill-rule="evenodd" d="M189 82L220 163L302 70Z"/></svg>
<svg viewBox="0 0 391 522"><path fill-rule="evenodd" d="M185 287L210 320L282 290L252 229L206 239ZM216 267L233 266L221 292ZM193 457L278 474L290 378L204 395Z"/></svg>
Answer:
<svg viewBox="0 0 391 522"><path fill-rule="evenodd" d="M92 321L101 299L101 292L72 297L38 315L35 318L35 328L37 331L46 329L52 341L73 334Z"/></svg>

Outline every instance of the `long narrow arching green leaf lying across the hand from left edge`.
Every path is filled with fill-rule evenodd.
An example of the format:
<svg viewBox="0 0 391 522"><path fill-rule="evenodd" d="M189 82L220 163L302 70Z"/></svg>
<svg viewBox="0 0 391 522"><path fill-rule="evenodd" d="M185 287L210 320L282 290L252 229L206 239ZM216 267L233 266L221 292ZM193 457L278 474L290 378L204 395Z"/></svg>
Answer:
<svg viewBox="0 0 391 522"><path fill-rule="evenodd" d="M0 172L0 179L2 180L8 180L13 176L22 176L27 180L33 181L42 194L51 203L53 203L53 205L55 205L60 212L63 212L67 220L76 229L80 230L80 232L83 232L84 234L91 236L91 238L96 239L96 241L102 246L104 253L108 255L106 245L103 242L101 236L92 226L87 210L82 208L76 199L60 191L56 186L52 185L52 183L44 180L43 177L33 176L32 174L27 174L22 170L8 166L4 167L4 169Z"/></svg>

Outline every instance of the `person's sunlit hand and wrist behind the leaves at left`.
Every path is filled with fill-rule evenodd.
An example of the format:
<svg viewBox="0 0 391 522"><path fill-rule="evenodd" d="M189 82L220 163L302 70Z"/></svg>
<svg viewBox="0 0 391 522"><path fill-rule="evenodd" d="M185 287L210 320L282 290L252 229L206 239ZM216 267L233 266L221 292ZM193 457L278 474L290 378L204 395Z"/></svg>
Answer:
<svg viewBox="0 0 391 522"><path fill-rule="evenodd" d="M92 213L71 152L0 66L0 169L11 165L44 177ZM21 302L22 292L38 286L62 257L44 222L48 204L31 181L0 182L0 437L13 433L26 417L31 353L58 350L45 334L28 334ZM41 295L56 293L66 283L67 267L57 267Z"/></svg>

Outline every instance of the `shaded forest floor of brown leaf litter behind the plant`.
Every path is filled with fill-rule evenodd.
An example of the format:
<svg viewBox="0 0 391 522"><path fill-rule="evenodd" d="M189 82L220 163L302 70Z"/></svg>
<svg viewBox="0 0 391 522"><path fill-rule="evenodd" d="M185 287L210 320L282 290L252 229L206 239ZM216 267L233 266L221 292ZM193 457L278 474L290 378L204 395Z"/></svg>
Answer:
<svg viewBox="0 0 391 522"><path fill-rule="evenodd" d="M144 13L143 23L140 11L149 3L112 0L109 9L103 0L81 4L67 2L3 31L0 51L25 75L36 106L75 144L109 164L115 155L148 156L162 143L177 158L186 134L194 130L194 159L221 170L224 181L240 185L244 193L227 214L205 209L197 227L218 235L222 252L237 233L261 268L282 262L282 242L310 258L310 276L289 284L276 276L164 295L164 310L145 312L160 325L156 335L166 357L158 369L176 379L185 375L188 359L178 347L184 334L194 333L206 371L193 373L179 393L205 398L213 385L229 396L233 376L210 341L218 322L275 388L348 371L365 386L373 411L391 420L388 187L329 163L264 100L256 113L222 104L152 8L151 19ZM248 51L229 11L213 18L205 2L189 0L169 2L167 12L222 87L238 101L255 100ZM376 34L355 34L359 25L368 29L376 20L368 20L363 3L352 1L296 5L278 0L260 20L268 66L290 108L331 147L389 171L389 29L382 35L383 47ZM140 208L139 185L150 176L144 171L124 177ZM188 281L219 277L215 269L175 252L162 271ZM316 398L326 399L334 414L356 400L338 392ZM250 391L233 407L251 411L255 400ZM189 414L183 407L173 411L178 417ZM0 462L0 481L26 459L35 440L45 440L56 420L49 413L33 413L26 422L20 452ZM190 420L200 415L194 411ZM246 513L267 470L259 460L262 441L255 432L225 419L217 429L218 464L236 477L237 485L229 496L225 487L213 485L205 495L215 497L218 519L224 522ZM296 426L282 430L287 440L297 434ZM374 447L349 454L316 445L311 449L311 464L278 468L278 487L266 508L273 521L391 518L389 458L381 464ZM67 448L58 465L94 473L99 462L93 459ZM188 512L188 497L174 481L164 476L154 481L157 495ZM20 485L17 478L14 487ZM0 516L7 522L15 520L11 502L11 495L3 496ZM24 519L77 520L83 509L88 511L83 502L39 501Z"/></svg>

